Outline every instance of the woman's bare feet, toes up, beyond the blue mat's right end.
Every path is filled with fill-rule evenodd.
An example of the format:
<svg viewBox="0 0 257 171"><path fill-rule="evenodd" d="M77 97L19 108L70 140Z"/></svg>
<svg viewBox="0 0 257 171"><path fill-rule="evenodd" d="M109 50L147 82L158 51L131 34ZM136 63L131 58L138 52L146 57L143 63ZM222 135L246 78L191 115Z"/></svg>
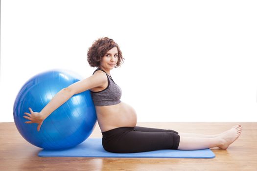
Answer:
<svg viewBox="0 0 257 171"><path fill-rule="evenodd" d="M220 135L221 144L218 147L221 149L227 149L229 145L232 144L239 137L242 130L243 128L240 125L238 125L222 133Z"/></svg>

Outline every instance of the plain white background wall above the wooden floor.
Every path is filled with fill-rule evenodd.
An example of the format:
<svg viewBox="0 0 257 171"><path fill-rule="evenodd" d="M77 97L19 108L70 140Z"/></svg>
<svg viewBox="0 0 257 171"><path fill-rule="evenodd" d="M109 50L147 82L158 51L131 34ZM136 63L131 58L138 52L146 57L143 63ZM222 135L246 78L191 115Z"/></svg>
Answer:
<svg viewBox="0 0 257 171"><path fill-rule="evenodd" d="M114 39L111 75L139 122L257 121L255 0L1 0L0 122L22 85L63 68L87 78L87 50Z"/></svg>

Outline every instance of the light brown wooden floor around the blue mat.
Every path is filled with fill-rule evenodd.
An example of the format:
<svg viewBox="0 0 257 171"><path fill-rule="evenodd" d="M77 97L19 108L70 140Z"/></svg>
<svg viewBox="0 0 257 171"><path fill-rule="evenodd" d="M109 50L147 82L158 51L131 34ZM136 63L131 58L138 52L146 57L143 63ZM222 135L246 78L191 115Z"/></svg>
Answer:
<svg viewBox="0 0 257 171"><path fill-rule="evenodd" d="M221 133L238 123L138 123L137 126L178 132ZM19 134L14 123L0 123L0 171L257 171L257 123L240 123L241 136L227 149L211 149L212 159L59 158L38 157L37 148ZM91 138L101 137L98 125Z"/></svg>

